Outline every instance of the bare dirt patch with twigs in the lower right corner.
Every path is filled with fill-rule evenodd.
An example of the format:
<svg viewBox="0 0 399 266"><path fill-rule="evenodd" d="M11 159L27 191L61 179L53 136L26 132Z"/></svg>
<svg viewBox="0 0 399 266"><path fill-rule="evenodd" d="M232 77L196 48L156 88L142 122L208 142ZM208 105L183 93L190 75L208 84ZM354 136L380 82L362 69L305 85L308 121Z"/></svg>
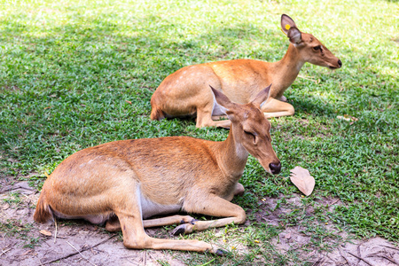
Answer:
<svg viewBox="0 0 399 266"><path fill-rule="evenodd" d="M262 199L259 202L261 209L255 214L255 219L260 223L269 223L283 228L278 238L272 239L272 244L282 254L296 252L305 260L310 260L313 265L399 265L399 247L386 239L354 239L345 231L337 231L331 223L304 222L289 225L290 219L281 217L300 210L303 216L313 216L315 209L312 206L303 207L301 196L293 194L286 199L286 204L279 206L278 199ZM325 210L332 212L333 208L341 205L338 199L317 200ZM301 217L303 217L301 216ZM301 218L301 222L304 219ZM312 228L309 230L309 227ZM313 228L325 231L321 235L325 239L314 239L311 231ZM333 236L333 238L331 238ZM319 237L319 236L317 236ZM318 243L317 243L318 242ZM396 263L396 264L395 264Z"/></svg>

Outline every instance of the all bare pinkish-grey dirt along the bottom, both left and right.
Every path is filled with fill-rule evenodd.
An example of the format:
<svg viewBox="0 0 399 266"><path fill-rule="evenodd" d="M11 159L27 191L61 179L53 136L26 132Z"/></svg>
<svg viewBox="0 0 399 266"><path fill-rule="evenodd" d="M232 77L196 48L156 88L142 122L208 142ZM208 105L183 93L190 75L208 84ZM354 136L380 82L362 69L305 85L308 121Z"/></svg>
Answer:
<svg viewBox="0 0 399 266"><path fill-rule="evenodd" d="M19 192L20 196L15 196ZM110 234L102 227L77 221L62 221L43 225L33 221L35 202L39 193L19 182L4 185L0 192L0 265L184 265L179 258L190 253L170 251L129 250L121 242L120 234ZM300 201L300 196L290 199L292 204ZM329 205L337 203L330 200ZM278 215L288 211L284 207L276 208L277 199L262 200L263 207L272 211L258 212L254 219L271 225L281 225ZM311 210L307 210L310 211ZM247 222L249 223L249 222ZM246 225L243 225L244 227ZM272 243L279 252L285 254L297 251L313 265L399 265L399 248L386 239L351 239L343 241L332 251L322 248L306 250L311 241L309 234L303 233L301 225L287 226ZM328 226L327 226L328 228ZM43 231L44 230L44 231ZM331 229L332 230L332 229ZM43 231L42 233L40 231ZM55 237L57 231L57 237ZM147 230L156 235L157 229ZM51 234L45 236L44 234ZM350 239L340 233L342 239ZM245 252L245 246L238 246ZM79 252L80 251L80 252Z"/></svg>

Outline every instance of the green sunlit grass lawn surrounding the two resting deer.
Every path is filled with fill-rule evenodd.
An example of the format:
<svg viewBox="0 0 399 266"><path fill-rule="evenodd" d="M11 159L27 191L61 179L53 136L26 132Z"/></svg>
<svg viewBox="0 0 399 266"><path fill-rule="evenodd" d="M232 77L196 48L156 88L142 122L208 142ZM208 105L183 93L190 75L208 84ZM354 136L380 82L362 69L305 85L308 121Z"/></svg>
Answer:
<svg viewBox="0 0 399 266"><path fill-rule="evenodd" d="M282 162L270 176L250 157L242 183L251 224L229 227L246 253L227 258L184 256L188 264L306 264L282 254L271 239L302 225L323 249L357 238L399 240L399 4L396 1L3 1L0 10L0 178L27 179L41 188L44 172L82 148L118 139L193 136L223 140L224 129L196 129L193 120L151 121L150 98L168 74L221 59L276 61L288 41L279 30L286 12L304 32L325 43L343 62L331 72L305 65L286 90L292 117L271 119ZM131 103L131 104L130 104ZM350 115L358 121L337 119ZM289 170L308 168L315 192L298 192ZM275 198L290 212L280 226L257 223ZM339 199L337 207L326 199ZM308 213L309 208L314 211ZM283 224L283 225L281 225ZM221 230L188 238L223 240ZM259 243L254 242L254 240ZM328 239L328 241L325 241ZM175 253L174 253L175 254ZM178 253L177 253L178 254ZM187 258L188 257L188 258ZM160 264L168 262L160 262Z"/></svg>

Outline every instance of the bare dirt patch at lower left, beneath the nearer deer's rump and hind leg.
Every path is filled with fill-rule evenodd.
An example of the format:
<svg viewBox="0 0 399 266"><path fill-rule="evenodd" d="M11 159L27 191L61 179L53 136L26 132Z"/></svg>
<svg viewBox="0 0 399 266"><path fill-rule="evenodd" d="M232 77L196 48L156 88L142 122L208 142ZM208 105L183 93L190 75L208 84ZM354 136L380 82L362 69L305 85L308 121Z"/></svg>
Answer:
<svg viewBox="0 0 399 266"><path fill-rule="evenodd" d="M56 262L51 263L57 265L159 265L160 262L184 265L168 252L129 250L123 246L119 233L110 234L84 221L59 222L57 238L54 238L54 224L37 224L33 220L39 193L27 182L3 187L2 191L0 265L40 265L54 260ZM17 192L20 198L15 203L13 195ZM51 236L43 235L41 230L50 232ZM153 230L148 234L153 235Z"/></svg>

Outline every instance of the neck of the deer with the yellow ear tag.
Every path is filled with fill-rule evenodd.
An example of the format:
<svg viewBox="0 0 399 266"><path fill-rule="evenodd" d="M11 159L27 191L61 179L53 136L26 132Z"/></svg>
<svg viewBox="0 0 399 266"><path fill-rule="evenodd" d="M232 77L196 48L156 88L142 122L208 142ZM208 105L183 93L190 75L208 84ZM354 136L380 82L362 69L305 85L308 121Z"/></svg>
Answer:
<svg viewBox="0 0 399 266"><path fill-rule="evenodd" d="M298 49L293 46L293 43L290 43L283 59L271 63L273 85L271 86L270 97L282 97L284 91L295 81L303 64L305 64L305 60L301 59Z"/></svg>

